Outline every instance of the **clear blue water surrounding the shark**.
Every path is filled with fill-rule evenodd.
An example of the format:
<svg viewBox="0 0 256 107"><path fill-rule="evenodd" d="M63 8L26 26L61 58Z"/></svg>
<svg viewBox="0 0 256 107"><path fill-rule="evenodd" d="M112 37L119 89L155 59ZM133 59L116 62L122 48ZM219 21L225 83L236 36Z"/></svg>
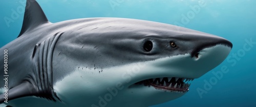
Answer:
<svg viewBox="0 0 256 107"><path fill-rule="evenodd" d="M25 5L20 2L24 1L0 2L0 47L19 34ZM152 107L256 106L256 1L38 0L38 3L52 23L85 17L125 17L179 25L224 37L233 44L229 60L195 79L189 92L181 98ZM195 7L200 7L200 11ZM17 12L16 16L12 16L13 11ZM6 23L7 18L12 22ZM248 44L250 41L254 44ZM228 72L223 73L222 69ZM218 74L217 78L213 72L221 72L222 76Z"/></svg>

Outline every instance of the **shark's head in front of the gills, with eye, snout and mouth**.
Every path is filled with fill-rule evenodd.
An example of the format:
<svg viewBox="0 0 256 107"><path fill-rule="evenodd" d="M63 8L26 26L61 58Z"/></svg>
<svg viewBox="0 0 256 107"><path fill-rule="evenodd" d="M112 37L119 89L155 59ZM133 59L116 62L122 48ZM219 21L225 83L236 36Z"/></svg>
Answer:
<svg viewBox="0 0 256 107"><path fill-rule="evenodd" d="M58 40L56 55L71 57L58 64L75 62L77 66L54 89L64 93L69 82L79 90L93 88L83 93L98 93L87 99L95 106L148 106L181 97L193 79L220 65L232 48L222 37L145 20L89 18L81 22ZM76 81L84 83L76 85Z"/></svg>

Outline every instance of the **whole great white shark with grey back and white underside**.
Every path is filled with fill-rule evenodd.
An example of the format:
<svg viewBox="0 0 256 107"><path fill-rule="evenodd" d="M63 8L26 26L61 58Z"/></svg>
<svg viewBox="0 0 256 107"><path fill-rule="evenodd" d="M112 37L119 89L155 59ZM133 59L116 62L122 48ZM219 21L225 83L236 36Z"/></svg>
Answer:
<svg viewBox="0 0 256 107"><path fill-rule="evenodd" d="M174 25L127 18L50 23L27 1L8 50L8 103L0 61L0 103L10 106L150 106L181 97L217 67L230 41ZM0 55L4 59L4 55Z"/></svg>

